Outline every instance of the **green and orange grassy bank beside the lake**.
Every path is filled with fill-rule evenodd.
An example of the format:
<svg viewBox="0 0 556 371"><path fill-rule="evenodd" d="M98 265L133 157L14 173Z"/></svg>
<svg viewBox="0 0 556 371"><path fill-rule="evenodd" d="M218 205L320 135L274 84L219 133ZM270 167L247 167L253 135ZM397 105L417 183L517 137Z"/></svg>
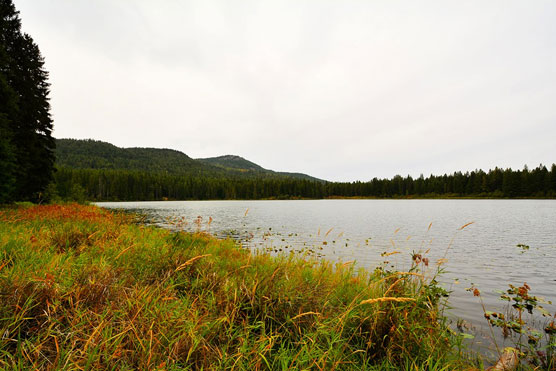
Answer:
<svg viewBox="0 0 556 371"><path fill-rule="evenodd" d="M5 369L464 369L441 294L418 267L272 257L94 206L0 211Z"/></svg>

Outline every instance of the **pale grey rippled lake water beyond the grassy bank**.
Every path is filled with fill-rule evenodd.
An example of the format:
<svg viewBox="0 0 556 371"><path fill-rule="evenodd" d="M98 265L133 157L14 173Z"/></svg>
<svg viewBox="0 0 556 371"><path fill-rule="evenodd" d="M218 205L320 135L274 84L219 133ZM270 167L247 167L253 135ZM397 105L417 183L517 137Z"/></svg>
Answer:
<svg viewBox="0 0 556 371"><path fill-rule="evenodd" d="M408 269L412 252L444 256L449 315L478 333L486 326L474 283L487 309L503 308L508 284L556 302L556 200L300 200L102 202L138 211L174 230L232 237L252 249L296 251L374 269L388 260ZM467 223L471 223L460 229ZM431 224L432 223L432 224ZM528 249L518 247L527 245ZM399 252L385 256L384 253ZM554 313L554 305L544 305ZM497 329L496 329L497 330ZM477 338L477 343L481 339Z"/></svg>

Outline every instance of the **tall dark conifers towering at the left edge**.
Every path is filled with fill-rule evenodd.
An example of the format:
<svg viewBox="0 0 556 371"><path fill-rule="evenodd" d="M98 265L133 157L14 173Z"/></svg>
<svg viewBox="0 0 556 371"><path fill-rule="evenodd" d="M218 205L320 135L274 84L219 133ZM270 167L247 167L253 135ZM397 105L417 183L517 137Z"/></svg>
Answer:
<svg viewBox="0 0 556 371"><path fill-rule="evenodd" d="M48 72L12 0L0 0L0 202L40 198L52 179Z"/></svg>

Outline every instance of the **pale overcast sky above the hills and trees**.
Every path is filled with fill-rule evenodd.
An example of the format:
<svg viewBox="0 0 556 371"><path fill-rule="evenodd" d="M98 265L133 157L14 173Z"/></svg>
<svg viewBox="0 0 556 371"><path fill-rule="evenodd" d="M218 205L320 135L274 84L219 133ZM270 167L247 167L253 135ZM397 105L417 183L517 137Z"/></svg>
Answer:
<svg viewBox="0 0 556 371"><path fill-rule="evenodd" d="M14 2L57 138L342 181L556 162L556 1Z"/></svg>

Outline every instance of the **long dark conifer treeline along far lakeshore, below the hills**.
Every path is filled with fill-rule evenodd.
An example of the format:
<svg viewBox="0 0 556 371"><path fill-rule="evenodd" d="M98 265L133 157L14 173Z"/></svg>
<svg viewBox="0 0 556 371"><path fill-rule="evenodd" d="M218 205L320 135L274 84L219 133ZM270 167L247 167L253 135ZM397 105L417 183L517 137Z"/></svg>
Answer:
<svg viewBox="0 0 556 371"><path fill-rule="evenodd" d="M215 178L129 170L59 168L51 197L93 201L208 200L329 197L556 197L556 165L550 170L499 169L369 182L321 182L292 178Z"/></svg>

